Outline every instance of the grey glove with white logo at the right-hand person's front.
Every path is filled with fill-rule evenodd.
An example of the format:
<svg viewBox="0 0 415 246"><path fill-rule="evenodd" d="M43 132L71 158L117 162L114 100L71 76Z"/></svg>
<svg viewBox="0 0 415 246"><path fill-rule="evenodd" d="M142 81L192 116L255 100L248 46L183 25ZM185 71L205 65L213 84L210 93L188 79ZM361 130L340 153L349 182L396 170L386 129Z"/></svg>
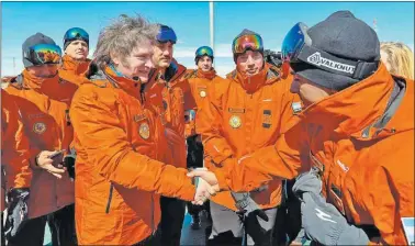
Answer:
<svg viewBox="0 0 415 246"><path fill-rule="evenodd" d="M310 186L312 187L312 186ZM363 230L350 225L346 217L321 194L304 192L301 203L305 235L323 245L368 245Z"/></svg>

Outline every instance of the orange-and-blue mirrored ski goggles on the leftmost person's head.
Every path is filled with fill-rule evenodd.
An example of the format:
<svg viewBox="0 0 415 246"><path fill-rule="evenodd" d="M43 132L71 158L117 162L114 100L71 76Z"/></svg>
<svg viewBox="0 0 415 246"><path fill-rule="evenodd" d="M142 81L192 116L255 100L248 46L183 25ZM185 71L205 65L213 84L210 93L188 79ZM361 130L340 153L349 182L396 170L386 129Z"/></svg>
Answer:
<svg viewBox="0 0 415 246"><path fill-rule="evenodd" d="M37 44L29 47L29 49L23 53L23 58L31 62L33 66L59 64L60 57L60 47L54 44Z"/></svg>

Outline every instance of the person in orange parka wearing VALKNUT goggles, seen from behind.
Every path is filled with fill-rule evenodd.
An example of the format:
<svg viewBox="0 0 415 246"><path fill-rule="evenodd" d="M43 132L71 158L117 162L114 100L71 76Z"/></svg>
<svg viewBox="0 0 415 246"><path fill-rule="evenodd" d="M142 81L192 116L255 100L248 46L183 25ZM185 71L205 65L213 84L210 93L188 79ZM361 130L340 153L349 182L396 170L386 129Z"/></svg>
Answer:
<svg viewBox="0 0 415 246"><path fill-rule="evenodd" d="M307 105L301 122L228 170L190 176L248 191L302 174L293 192L305 239L412 244L414 81L388 71L375 32L349 11L296 24L282 54L295 72L292 91Z"/></svg>

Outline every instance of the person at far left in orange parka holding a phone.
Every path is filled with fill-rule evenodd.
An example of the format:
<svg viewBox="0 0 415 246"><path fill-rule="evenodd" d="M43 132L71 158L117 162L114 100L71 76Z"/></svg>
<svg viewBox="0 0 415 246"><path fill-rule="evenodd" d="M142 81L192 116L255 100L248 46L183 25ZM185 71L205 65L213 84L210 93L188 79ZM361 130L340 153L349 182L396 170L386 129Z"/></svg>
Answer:
<svg viewBox="0 0 415 246"><path fill-rule="evenodd" d="M56 245L75 244L74 182L60 163L72 141L68 105L48 97L48 85L58 85L60 48L42 33L22 45L25 69L13 78L7 92L14 96L33 157L29 159L33 178L27 217L11 245L42 244L46 222ZM57 155L52 163L52 156ZM32 156L32 155L31 155Z"/></svg>

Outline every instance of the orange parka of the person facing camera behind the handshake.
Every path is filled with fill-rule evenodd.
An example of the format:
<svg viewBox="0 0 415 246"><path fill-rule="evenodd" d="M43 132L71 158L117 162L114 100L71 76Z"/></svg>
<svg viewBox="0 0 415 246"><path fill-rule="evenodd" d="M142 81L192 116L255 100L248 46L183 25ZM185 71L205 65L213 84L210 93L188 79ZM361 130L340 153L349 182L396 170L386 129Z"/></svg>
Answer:
<svg viewBox="0 0 415 246"><path fill-rule="evenodd" d="M225 167L233 158L276 143L284 124L295 118L293 103L300 103L290 92L291 81L292 77L282 79L278 68L266 64L255 76L244 77L234 70L227 80L214 85L210 96L212 118L204 108L200 112L202 121L212 122L202 131L208 168ZM281 180L250 195L260 208L274 208L281 202ZM229 192L220 192L212 201L237 210Z"/></svg>

